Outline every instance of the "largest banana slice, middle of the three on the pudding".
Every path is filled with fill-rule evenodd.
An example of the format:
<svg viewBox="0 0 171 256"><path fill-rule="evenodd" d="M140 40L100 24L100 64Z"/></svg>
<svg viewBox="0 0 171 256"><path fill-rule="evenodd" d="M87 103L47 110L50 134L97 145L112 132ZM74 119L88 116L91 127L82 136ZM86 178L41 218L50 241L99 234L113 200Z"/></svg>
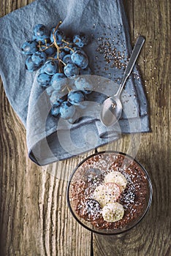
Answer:
<svg viewBox="0 0 171 256"><path fill-rule="evenodd" d="M99 185L94 190L94 199L99 202L101 207L105 206L107 203L115 202L120 195L120 187L113 182Z"/></svg>

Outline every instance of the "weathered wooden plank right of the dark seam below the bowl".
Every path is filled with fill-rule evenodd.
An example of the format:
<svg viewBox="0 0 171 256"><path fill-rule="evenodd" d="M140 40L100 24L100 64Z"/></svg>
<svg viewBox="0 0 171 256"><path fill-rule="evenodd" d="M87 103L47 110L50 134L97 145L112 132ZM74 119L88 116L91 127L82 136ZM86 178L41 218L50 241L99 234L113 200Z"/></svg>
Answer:
<svg viewBox="0 0 171 256"><path fill-rule="evenodd" d="M94 256L170 255L170 1L124 1L132 42L146 37L138 60L149 102L151 133L137 159L151 175L153 203L145 219L121 238L94 236ZM127 151L128 137L113 143ZM111 146L110 146L111 148ZM133 152L134 153L134 152Z"/></svg>

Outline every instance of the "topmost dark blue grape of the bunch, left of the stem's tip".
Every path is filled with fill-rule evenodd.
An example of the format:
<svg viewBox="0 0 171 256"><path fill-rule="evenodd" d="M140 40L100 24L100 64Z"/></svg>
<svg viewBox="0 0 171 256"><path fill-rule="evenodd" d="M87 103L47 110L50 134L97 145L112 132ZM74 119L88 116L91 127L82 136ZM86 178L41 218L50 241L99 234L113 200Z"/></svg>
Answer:
<svg viewBox="0 0 171 256"><path fill-rule="evenodd" d="M49 39L50 32L45 25L37 24L34 26L34 38L37 41L45 42L45 39Z"/></svg>

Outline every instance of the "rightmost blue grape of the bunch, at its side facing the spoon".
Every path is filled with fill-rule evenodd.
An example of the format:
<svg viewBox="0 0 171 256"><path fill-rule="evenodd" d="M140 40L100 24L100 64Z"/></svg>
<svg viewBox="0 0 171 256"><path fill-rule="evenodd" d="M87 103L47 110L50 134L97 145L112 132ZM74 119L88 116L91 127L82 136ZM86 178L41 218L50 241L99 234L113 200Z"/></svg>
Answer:
<svg viewBox="0 0 171 256"><path fill-rule="evenodd" d="M87 78L82 76L75 79L75 86L78 90L82 90L86 94L91 93L94 88L93 84Z"/></svg>

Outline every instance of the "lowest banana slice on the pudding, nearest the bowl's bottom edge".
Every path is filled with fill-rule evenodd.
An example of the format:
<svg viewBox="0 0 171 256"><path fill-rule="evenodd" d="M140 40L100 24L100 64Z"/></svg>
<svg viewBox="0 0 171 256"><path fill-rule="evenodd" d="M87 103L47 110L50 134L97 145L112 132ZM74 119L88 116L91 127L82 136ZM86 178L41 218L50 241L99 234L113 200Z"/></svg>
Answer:
<svg viewBox="0 0 171 256"><path fill-rule="evenodd" d="M106 222L118 222L124 215L124 209L121 203L107 203L102 208L102 216Z"/></svg>

